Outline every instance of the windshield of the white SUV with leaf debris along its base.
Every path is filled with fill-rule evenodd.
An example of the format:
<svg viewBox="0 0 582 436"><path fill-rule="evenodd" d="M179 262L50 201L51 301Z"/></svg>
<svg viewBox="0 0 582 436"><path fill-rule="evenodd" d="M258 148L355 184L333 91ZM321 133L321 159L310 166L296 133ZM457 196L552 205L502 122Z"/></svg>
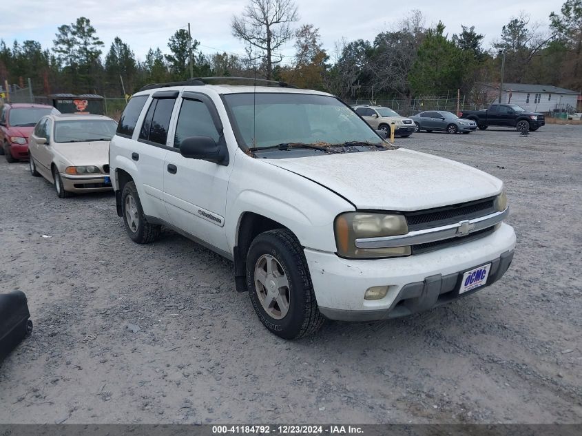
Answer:
<svg viewBox="0 0 582 436"><path fill-rule="evenodd" d="M380 144L362 118L332 96L287 93L226 94L238 141L252 149L281 144Z"/></svg>

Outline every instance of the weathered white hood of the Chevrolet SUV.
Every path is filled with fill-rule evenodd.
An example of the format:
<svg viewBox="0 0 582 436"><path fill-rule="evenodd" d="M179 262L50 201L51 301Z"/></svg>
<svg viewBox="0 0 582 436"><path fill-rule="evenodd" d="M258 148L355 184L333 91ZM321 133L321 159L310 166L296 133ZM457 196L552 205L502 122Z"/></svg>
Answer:
<svg viewBox="0 0 582 436"><path fill-rule="evenodd" d="M495 196L503 188L479 169L403 148L263 161L335 191L357 209L430 209Z"/></svg>

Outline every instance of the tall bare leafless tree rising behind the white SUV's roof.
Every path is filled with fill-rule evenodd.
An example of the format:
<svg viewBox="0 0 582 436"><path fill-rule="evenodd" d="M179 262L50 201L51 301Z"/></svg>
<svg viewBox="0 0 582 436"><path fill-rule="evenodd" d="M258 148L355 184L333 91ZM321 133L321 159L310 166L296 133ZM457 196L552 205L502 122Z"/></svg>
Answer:
<svg viewBox="0 0 582 436"><path fill-rule="evenodd" d="M273 64L283 59L277 50L293 37L291 23L298 19L291 0L249 0L240 17L232 17L232 34L261 52L267 79L271 79Z"/></svg>

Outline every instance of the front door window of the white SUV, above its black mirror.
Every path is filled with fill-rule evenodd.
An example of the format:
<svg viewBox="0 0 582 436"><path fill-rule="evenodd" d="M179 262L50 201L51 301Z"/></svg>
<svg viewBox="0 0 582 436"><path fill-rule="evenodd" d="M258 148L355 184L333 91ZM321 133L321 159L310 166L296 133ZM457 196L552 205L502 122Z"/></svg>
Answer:
<svg viewBox="0 0 582 436"><path fill-rule="evenodd" d="M217 143L220 139L207 105L198 100L185 99L178 115L174 147L179 148L180 143L189 136L209 136Z"/></svg>

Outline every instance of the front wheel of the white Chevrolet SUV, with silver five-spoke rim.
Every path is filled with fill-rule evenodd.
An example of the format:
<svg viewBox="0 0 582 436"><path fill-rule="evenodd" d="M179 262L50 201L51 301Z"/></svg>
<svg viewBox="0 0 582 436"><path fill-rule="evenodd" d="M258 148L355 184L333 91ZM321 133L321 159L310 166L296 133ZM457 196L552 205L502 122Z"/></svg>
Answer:
<svg viewBox="0 0 582 436"><path fill-rule="evenodd" d="M298 339L321 328L324 318L309 267L291 231L260 233L247 253L246 269L251 303L267 330L280 338Z"/></svg>

